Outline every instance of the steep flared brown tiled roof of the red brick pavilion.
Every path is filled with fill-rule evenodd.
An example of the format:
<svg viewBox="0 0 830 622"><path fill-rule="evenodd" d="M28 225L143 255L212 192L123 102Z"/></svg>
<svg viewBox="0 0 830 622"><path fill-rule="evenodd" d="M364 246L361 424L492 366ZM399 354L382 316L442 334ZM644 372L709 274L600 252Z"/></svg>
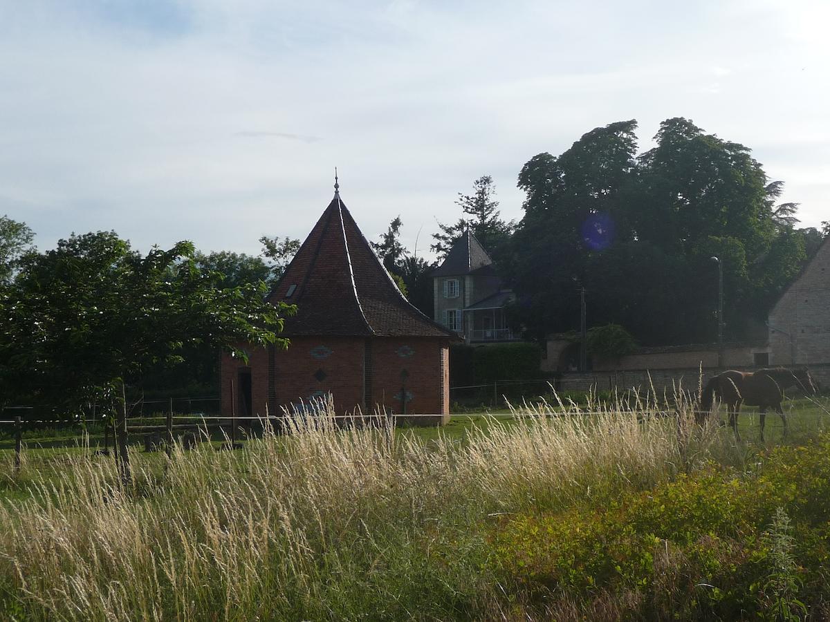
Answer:
<svg viewBox="0 0 830 622"><path fill-rule="evenodd" d="M291 292L289 294L289 292ZM283 334L457 339L409 304L349 210L334 193L329 207L286 267L268 299L297 305Z"/></svg>

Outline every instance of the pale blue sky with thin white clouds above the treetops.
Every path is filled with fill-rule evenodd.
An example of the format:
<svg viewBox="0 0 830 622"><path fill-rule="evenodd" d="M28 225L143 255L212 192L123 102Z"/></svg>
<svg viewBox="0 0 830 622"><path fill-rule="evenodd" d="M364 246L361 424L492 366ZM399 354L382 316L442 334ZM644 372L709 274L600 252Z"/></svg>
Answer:
<svg viewBox="0 0 830 622"><path fill-rule="evenodd" d="M0 215L41 250L115 230L258 254L340 193L428 254L491 175L637 119L752 149L830 220L830 2L0 0Z"/></svg>

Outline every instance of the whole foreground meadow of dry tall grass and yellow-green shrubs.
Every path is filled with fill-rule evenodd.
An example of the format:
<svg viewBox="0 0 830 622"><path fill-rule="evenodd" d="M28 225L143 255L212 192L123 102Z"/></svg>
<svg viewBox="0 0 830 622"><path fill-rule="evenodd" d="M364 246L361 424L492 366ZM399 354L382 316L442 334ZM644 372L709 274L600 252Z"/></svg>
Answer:
<svg viewBox="0 0 830 622"><path fill-rule="evenodd" d="M588 403L241 451L0 452L11 620L796 619L830 615L830 435ZM590 411L591 414L585 414ZM753 419L755 425L752 425ZM27 440L27 442L29 442Z"/></svg>

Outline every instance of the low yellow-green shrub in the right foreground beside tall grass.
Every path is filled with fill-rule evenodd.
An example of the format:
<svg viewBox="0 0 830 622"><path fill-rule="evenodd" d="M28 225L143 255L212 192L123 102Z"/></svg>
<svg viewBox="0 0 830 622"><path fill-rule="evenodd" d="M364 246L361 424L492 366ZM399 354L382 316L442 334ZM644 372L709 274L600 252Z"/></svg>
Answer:
<svg viewBox="0 0 830 622"><path fill-rule="evenodd" d="M749 474L711 465L603 507L515 516L493 530L491 563L537 604L636 593L629 615L792 617L830 588L828 469L825 439L774 449Z"/></svg>

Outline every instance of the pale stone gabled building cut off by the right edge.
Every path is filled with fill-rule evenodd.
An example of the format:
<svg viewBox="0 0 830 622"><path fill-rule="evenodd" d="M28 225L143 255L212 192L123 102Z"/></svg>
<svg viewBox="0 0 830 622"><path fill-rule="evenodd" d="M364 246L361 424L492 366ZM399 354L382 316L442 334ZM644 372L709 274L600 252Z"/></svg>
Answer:
<svg viewBox="0 0 830 622"><path fill-rule="evenodd" d="M769 312L769 363L830 363L830 237Z"/></svg>

